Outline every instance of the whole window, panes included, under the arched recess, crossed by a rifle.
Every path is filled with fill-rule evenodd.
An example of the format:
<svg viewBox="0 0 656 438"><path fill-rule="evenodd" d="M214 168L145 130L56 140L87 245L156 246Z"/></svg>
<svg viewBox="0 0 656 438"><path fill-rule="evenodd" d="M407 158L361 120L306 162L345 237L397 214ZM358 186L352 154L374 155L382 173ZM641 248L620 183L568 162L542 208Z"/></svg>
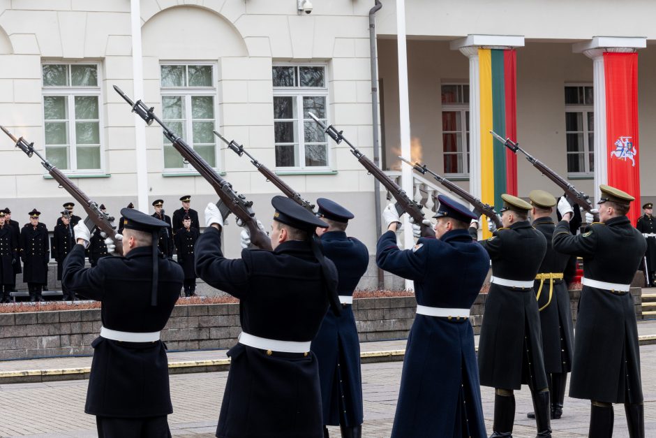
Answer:
<svg viewBox="0 0 656 438"><path fill-rule="evenodd" d="M216 86L213 64L162 64L162 120L210 166L217 166ZM189 168L171 142L163 137L164 168Z"/></svg>

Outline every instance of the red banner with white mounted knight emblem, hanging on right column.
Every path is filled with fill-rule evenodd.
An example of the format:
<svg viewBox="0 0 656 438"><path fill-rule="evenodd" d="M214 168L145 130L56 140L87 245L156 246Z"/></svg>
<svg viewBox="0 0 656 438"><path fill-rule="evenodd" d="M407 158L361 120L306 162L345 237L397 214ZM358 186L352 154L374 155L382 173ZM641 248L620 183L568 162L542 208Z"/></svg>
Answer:
<svg viewBox="0 0 656 438"><path fill-rule="evenodd" d="M638 54L604 53L608 184L634 196L627 216L640 217Z"/></svg>

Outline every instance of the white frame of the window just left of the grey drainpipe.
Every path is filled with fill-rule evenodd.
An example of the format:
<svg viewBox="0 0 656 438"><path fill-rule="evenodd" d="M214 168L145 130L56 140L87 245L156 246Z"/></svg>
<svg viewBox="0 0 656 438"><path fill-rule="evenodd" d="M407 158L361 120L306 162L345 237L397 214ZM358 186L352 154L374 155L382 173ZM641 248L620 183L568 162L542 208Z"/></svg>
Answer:
<svg viewBox="0 0 656 438"><path fill-rule="evenodd" d="M296 119L276 119L273 117L274 121L274 154L276 153L276 145L285 145L287 143L276 143L275 138L275 123L276 121L294 121L297 122L296 135L298 138L298 149L296 151L298 156L299 166L275 166L274 170L276 173L326 173L331 172L332 169L332 149L331 143L329 142L328 135L325 136L326 143L326 166L306 166L305 165L305 132L304 132L304 122L313 122L313 119L306 119L304 117L303 110L303 97L324 97L326 99L326 124L330 125L330 114L329 108L331 105L330 102L330 89L329 89L329 80L328 80L328 64L325 62L303 62L303 63L294 63L294 62L274 62L271 64L271 69L274 67L323 67L324 68L324 87L301 87L300 82L298 87L275 87L273 86L273 96L275 97L294 97L296 99L296 108L297 108L297 118Z"/></svg>

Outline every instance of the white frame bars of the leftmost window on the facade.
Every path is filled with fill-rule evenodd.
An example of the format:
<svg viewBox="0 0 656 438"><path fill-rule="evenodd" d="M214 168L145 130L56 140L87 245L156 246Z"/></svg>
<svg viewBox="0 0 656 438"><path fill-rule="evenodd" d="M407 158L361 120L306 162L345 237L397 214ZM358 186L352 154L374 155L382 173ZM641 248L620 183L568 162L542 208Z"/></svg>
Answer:
<svg viewBox="0 0 656 438"><path fill-rule="evenodd" d="M98 85L81 87L73 85L64 85L64 86L55 86L55 87L46 87L43 84L43 66L45 65L65 65L67 68L68 79L70 83L71 70L70 66L73 65L93 65L96 66L96 80ZM105 125L103 121L105 120L105 102L103 101L103 91L101 84L103 83L103 78L101 77L101 69L99 61L42 61L40 63L40 74L41 74L41 115L43 116L43 149L47 159L47 145L45 143L45 124L49 121L45 119L45 98L47 96L64 96L66 97L66 105L68 109L68 129L66 133L68 135L68 168L59 169L64 174L68 175L98 175L105 173ZM98 98L98 142L99 142L99 154L100 154L100 168L96 169L78 169L77 168L77 134L75 132L75 96L96 96ZM53 119L54 120L54 119ZM58 119L59 120L59 119ZM84 119L86 120L86 119ZM80 147L85 147L87 145L80 145ZM52 145L52 147L57 147L57 145ZM44 173L44 175L47 172Z"/></svg>

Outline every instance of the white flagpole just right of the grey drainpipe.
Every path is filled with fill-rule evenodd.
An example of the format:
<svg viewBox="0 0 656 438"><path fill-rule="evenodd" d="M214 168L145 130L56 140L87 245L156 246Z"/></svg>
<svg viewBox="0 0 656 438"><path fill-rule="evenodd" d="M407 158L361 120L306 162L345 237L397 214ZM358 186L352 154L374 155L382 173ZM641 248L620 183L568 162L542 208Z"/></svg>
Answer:
<svg viewBox="0 0 656 438"><path fill-rule="evenodd" d="M396 1L396 45L398 48L398 113L401 131L401 156L410 161L410 103L408 98L408 53L405 43L405 0ZM412 198L412 168L401 166L401 188ZM415 245L408 214L403 217L403 247L410 249ZM405 289L414 289L412 281L405 280Z"/></svg>

